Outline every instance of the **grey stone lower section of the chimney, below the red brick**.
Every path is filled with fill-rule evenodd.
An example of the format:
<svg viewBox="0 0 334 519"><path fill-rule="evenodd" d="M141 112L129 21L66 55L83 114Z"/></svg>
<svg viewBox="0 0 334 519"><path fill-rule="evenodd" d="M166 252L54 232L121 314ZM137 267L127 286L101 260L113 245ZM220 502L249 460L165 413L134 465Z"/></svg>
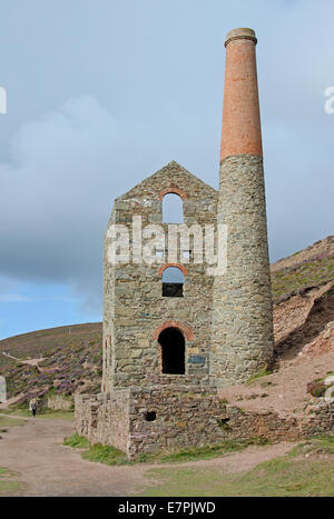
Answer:
<svg viewBox="0 0 334 519"><path fill-rule="evenodd" d="M218 222L227 226L227 272L214 279L210 378L243 382L271 366L273 311L262 158L220 167Z"/></svg>

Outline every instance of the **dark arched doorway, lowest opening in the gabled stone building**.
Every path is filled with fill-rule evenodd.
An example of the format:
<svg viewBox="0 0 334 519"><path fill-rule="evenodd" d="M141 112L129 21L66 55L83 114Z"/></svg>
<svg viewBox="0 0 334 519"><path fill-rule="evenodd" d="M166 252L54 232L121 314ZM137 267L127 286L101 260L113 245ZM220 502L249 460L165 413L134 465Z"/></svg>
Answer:
<svg viewBox="0 0 334 519"><path fill-rule="evenodd" d="M163 373L185 375L185 338L177 328L166 328L158 338Z"/></svg>

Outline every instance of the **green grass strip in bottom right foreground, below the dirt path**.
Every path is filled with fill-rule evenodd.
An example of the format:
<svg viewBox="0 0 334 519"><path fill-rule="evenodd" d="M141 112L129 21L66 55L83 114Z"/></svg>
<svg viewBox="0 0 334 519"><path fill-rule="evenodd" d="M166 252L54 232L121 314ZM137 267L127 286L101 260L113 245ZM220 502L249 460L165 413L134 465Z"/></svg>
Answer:
<svg viewBox="0 0 334 519"><path fill-rule="evenodd" d="M153 469L143 496L334 496L333 461L276 458L239 475L217 468ZM156 482L158 481L158 482Z"/></svg>

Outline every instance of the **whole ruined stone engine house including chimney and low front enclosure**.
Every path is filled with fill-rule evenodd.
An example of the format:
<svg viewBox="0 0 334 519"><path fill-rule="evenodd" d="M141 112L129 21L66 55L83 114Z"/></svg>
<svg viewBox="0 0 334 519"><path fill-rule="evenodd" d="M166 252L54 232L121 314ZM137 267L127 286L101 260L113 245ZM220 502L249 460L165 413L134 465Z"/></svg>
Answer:
<svg viewBox="0 0 334 519"><path fill-rule="evenodd" d="M77 396L77 430L128 456L220 441L225 405L217 389L243 382L273 359L255 32L227 34L219 191L173 161L115 200L105 241L102 386ZM140 260L146 226L177 194L188 227L227 226L227 270L207 273L194 240L170 261ZM111 229L129 229L131 256L110 261ZM137 227L136 227L137 226ZM139 234L138 234L139 233ZM178 273L178 280L168 272Z"/></svg>

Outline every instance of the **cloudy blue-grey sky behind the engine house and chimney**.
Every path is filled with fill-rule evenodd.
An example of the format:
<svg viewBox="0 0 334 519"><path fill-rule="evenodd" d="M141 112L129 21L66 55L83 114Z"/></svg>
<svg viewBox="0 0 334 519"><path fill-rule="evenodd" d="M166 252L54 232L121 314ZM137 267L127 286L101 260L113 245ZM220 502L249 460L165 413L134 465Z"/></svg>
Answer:
<svg viewBox="0 0 334 519"><path fill-rule="evenodd" d="M218 186L225 34L254 28L272 261L334 233L332 0L1 6L0 338L101 318L115 197L170 160Z"/></svg>

